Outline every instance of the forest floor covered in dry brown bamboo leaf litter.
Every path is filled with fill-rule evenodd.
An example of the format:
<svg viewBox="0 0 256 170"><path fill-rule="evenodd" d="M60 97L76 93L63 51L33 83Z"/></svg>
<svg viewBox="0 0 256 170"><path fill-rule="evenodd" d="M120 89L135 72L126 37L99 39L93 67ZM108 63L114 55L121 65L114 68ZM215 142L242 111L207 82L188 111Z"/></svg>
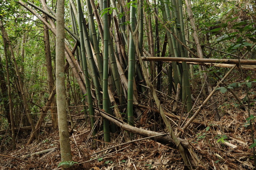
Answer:
<svg viewBox="0 0 256 170"><path fill-rule="evenodd" d="M255 88L250 89L251 92ZM235 91L240 99L245 97L245 91L237 89ZM162 94L161 94L162 95ZM169 100L165 96L159 96L166 112L173 110ZM206 121L209 125L215 125L217 128L205 127L204 125L190 125L188 130L182 133L180 138L186 139L191 144L187 150L189 159L194 165L193 169L254 169L253 150L249 149L252 144L251 129L247 124L248 108L237 105L231 93L225 94L216 92L218 100L218 110L220 121L214 121L214 117L209 107L198 115L197 120ZM250 113L255 116L256 95L251 95ZM202 99L199 103L202 102ZM82 108L77 107L76 112ZM176 110L180 115L182 106ZM75 114L75 113L73 113ZM163 132L163 122L159 119L159 114L152 113L150 110L143 112L144 119L137 122L138 128L151 131ZM146 118L145 118L146 117ZM186 117L186 114L184 114ZM80 118L80 117L79 117ZM74 117L73 119L76 119ZM177 127L179 120L172 119L173 127ZM98 125L101 125L101 119ZM253 122L255 129L255 122ZM69 126L71 129L71 126ZM177 128L175 133L177 133ZM97 133L96 138L90 138L90 125L88 121L79 121L75 125L73 134L70 135L71 152L74 162L74 169L88 170L140 170L140 169L187 169L183 165L182 158L174 144L162 143L150 139L136 141L130 144L118 146L100 153L106 148L110 148L124 141L124 133L116 132L112 134L111 143L104 144L102 141L103 131ZM17 149L11 150L11 140L5 139L0 155L0 169L57 169L61 162L58 130L43 128L40 132L40 141L34 141L27 145L30 134L21 132L21 140L18 141ZM24 137L26 135L26 138ZM22 137L23 136L23 137ZM135 139L143 138L135 135ZM96 150L92 148L92 142L96 144ZM39 155L28 155L38 151L54 148L53 150ZM117 152L116 152L117 151ZM96 153L96 154L95 154ZM102 156L102 157L101 157ZM84 162L84 163L81 163Z"/></svg>

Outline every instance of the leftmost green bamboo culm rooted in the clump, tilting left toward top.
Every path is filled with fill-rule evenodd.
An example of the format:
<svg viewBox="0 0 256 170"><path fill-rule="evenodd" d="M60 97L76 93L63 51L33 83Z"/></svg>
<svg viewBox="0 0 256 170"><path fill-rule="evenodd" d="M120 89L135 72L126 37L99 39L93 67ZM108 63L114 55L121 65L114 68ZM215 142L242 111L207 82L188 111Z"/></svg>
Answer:
<svg viewBox="0 0 256 170"><path fill-rule="evenodd" d="M80 0L77 0L77 6L81 7ZM80 8L78 8L80 9ZM80 38L80 47L81 47L81 53L82 53L82 60L83 60L83 66L84 66L84 75L85 75L85 85L86 85L86 91L87 91L87 102L89 105L89 115L90 115L90 121L91 121L91 127L93 128L93 125L95 123L94 120L94 112L93 112L93 100L92 100L92 94L90 89L90 80L87 70L87 61L85 56L85 46L84 46L84 36L83 36L83 26L82 26L82 17L83 14L81 13L81 10L78 10L77 12L77 23L79 27L79 38ZM93 135L96 134L96 128L93 130Z"/></svg>

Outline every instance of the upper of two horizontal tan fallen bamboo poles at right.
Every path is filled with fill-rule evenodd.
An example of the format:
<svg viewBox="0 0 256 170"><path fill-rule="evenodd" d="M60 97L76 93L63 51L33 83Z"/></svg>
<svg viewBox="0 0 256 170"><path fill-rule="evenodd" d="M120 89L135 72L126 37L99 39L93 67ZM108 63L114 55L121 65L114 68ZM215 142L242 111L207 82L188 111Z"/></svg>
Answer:
<svg viewBox="0 0 256 170"><path fill-rule="evenodd" d="M225 63L239 64L238 59L217 59L217 58L187 58L187 57L141 57L144 61L185 61L198 63ZM240 60L241 64L256 65L256 60Z"/></svg>

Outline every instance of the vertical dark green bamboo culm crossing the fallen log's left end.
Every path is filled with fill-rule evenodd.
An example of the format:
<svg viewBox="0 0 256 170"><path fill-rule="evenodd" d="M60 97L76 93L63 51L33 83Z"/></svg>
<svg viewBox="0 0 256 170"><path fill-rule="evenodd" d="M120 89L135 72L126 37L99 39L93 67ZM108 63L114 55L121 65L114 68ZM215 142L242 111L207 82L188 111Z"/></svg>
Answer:
<svg viewBox="0 0 256 170"><path fill-rule="evenodd" d="M103 0L103 9L107 8L107 0ZM109 94L108 94L108 66L109 66L109 24L108 24L108 14L103 15L103 45L104 45L104 55L103 55L103 110L108 112L109 110ZM103 119L103 132L104 132L104 141L110 142L109 134L109 121Z"/></svg>

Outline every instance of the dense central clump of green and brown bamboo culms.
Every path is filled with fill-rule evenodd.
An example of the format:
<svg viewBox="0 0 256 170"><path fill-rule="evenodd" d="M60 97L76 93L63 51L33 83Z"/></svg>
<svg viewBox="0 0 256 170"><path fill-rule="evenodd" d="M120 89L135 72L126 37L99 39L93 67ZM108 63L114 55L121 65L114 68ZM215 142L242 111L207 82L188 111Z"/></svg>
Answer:
<svg viewBox="0 0 256 170"><path fill-rule="evenodd" d="M50 14L49 11L52 11L52 9L43 1L41 3L45 6L44 9L29 1L27 1L27 4L22 1L18 1L18 3L36 15L41 21L43 21L43 19L37 14L37 11L46 14L49 20L56 19L54 16L55 13L52 12L52 14ZM88 114L92 116L90 118L92 127L95 123L93 118L93 107L95 106L105 110L105 112L110 115L115 115L116 117L126 120L130 125L134 125L134 116L139 117L141 114L140 110L134 109L133 107L133 104L138 104L138 95L153 95L156 93L152 92L156 88L156 84L158 84L158 91L161 90L162 80L160 73L162 72L163 64L157 65L158 72L156 73L156 63L151 61L150 63L146 63L148 66L145 66L144 62L141 60L142 56L160 56L160 51L162 51L162 57L166 55L187 57L188 53L184 47L186 42L183 12L182 8L178 8L179 5L182 6L182 2L177 2L177 4L175 1L172 2L172 4L175 3L173 6L177 7L175 11L169 10L169 2L161 3L162 4L159 5L161 7L161 17L163 17L161 22L165 22L166 39L169 48L166 47L167 42L165 41L165 48L160 49L160 38L158 35L158 49L156 51L154 47L156 40L153 39L152 24L150 24L152 18L150 15L156 15L156 22L160 15L158 14L159 11L156 10L156 8L154 9L150 2L131 1L127 5L125 1L112 1L112 3L109 4L110 6L108 6L107 2L103 1L99 2L99 8L97 8L95 2L86 1L86 12L88 15L85 16L80 1L69 1L69 15L72 31L67 26L65 29L70 33L74 41L73 43L66 41L66 56L69 55L68 64L71 66L69 62L72 61L72 65L75 65L72 70L77 72L76 79L81 80L79 86L81 89L84 89L82 93L86 96ZM30 6L35 8L35 10ZM146 13L148 12L148 14L145 14L145 11ZM180 27L174 26L173 18L175 18L174 21L176 25L180 25ZM147 23L146 25L144 21ZM88 22L88 26L86 22ZM52 28L54 33L54 23L49 23L44 22L48 28ZM172 23L172 25L169 23ZM112 28L114 29L112 30ZM148 30L146 31L146 35L144 34L144 29ZM175 36L174 32L179 36ZM181 34L181 32L183 32L183 34ZM144 43L144 37L147 37L146 44ZM71 47L71 49L68 49L68 46ZM102 50L100 50L100 46L102 46ZM182 101L184 103L187 98L186 105L189 112L192 105L186 63L182 62L182 64L177 64L173 62L167 69L169 70L168 76L170 81L170 85L168 86L169 94L172 94L172 88L175 89L177 85L180 84L182 87ZM174 72L175 87L173 87L171 82L172 72ZM159 75L156 76L157 74ZM156 82L156 80L158 82ZM112 88L110 88L110 86ZM92 88L95 90L92 91ZM118 97L120 103L115 101L114 96ZM117 107L118 104L125 104L126 101L127 110L125 110L124 107ZM112 109L112 107L114 107L114 109ZM126 113L126 116L120 114L123 112ZM136 113L136 115L134 115L134 113ZM104 120L103 127L104 141L110 141L110 129L112 132L115 132L115 126L109 126L108 120ZM96 128L93 131L93 134L95 133Z"/></svg>

